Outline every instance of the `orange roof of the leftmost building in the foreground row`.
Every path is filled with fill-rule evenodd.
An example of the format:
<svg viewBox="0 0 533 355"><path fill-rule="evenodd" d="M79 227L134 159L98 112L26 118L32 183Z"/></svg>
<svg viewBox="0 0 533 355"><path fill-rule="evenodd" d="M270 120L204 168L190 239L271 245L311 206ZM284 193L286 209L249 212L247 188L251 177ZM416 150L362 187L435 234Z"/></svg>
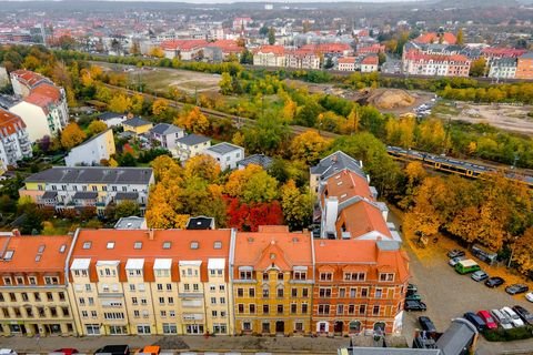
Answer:
<svg viewBox="0 0 533 355"><path fill-rule="evenodd" d="M0 236L1 250L6 250L0 263L1 273L32 273L64 271L72 237L70 235ZM42 253L39 253L39 251ZM6 261L12 251L12 258ZM41 255L37 257L37 255Z"/></svg>

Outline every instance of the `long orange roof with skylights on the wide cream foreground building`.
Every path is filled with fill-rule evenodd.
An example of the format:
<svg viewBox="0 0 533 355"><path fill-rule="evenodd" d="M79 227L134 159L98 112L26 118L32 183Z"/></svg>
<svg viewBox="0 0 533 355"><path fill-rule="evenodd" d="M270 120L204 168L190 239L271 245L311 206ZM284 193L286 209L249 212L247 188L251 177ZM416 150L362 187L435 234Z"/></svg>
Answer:
<svg viewBox="0 0 533 355"><path fill-rule="evenodd" d="M152 236L150 236L152 235ZM155 258L179 261L202 261L201 278L208 281L209 258L228 258L231 230L81 230L74 245L71 261L91 258L91 280L98 280L94 265L98 261L120 261L120 280L125 281L125 263L128 258L144 258L144 278L153 281L153 263ZM83 248L90 242L90 248ZM142 245L135 248L137 242ZM164 245L170 242L170 245ZM198 248L191 243L198 242ZM220 243L220 248L215 247ZM108 243L114 243L108 248ZM228 270L228 264L225 265ZM172 280L178 281L178 268L172 267ZM225 273L228 276L228 273Z"/></svg>

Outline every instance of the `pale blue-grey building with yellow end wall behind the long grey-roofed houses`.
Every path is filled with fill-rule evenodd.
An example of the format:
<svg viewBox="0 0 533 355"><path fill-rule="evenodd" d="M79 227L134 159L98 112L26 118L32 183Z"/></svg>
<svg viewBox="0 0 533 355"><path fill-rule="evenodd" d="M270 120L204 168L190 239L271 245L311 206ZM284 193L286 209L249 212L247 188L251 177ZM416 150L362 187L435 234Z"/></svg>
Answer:
<svg viewBox="0 0 533 355"><path fill-rule="evenodd" d="M102 160L109 160L115 153L113 131L107 131L94 135L87 142L72 148L70 153L64 158L67 166L77 165L100 165Z"/></svg>

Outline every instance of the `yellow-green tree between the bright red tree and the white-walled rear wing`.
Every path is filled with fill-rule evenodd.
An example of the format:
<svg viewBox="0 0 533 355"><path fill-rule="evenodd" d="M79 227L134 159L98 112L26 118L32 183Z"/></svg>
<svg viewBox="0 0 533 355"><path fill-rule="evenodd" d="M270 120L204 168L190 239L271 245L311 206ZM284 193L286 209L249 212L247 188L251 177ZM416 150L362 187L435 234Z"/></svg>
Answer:
<svg viewBox="0 0 533 355"><path fill-rule="evenodd" d="M293 180L289 180L281 187L281 205L285 222L292 231L302 230L311 224L313 197L309 189L302 192L296 187Z"/></svg>

